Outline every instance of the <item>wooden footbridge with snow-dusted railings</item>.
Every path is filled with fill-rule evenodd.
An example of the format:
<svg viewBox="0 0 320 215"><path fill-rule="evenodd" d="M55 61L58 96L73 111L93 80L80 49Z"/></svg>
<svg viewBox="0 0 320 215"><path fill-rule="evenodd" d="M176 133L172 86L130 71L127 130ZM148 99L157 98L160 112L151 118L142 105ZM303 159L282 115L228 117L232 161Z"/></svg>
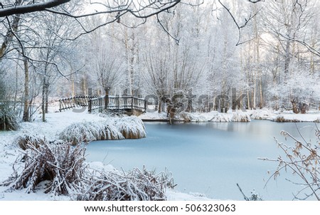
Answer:
<svg viewBox="0 0 320 215"><path fill-rule="evenodd" d="M104 110L110 112L145 112L146 101L144 98L138 98L133 95L108 95L108 96L88 96L77 95L70 98L62 98L59 100L59 111L87 107L88 112L102 112Z"/></svg>

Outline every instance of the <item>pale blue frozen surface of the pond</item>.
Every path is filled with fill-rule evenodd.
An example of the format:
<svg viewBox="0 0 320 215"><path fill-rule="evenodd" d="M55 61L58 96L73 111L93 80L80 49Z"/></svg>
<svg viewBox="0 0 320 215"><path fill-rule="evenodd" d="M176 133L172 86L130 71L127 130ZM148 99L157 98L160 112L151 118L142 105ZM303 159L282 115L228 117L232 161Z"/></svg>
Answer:
<svg viewBox="0 0 320 215"><path fill-rule="evenodd" d="M265 187L270 177L267 172L274 170L276 163L257 158L277 158L280 150L274 137L293 145L279 134L281 130L298 136L299 127L307 140L314 139L314 123L253 120L145 125L147 137L141 140L91 142L87 160L124 170L143 166L156 172L169 169L178 184L176 190L223 200L243 199L237 183L247 196L255 190L265 200L292 200L292 193L300 187L286 180L294 179L291 174L281 174Z"/></svg>

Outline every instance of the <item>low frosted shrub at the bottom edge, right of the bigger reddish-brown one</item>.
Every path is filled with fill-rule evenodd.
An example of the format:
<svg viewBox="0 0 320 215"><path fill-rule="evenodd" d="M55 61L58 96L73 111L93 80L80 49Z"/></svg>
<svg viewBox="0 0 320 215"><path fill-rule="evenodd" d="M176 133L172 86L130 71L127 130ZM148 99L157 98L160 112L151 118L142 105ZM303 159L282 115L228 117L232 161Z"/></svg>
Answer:
<svg viewBox="0 0 320 215"><path fill-rule="evenodd" d="M90 187L84 194L76 195L80 201L155 201L166 200L165 189L174 188L171 174L155 174L145 168L127 173L100 172L92 174Z"/></svg>

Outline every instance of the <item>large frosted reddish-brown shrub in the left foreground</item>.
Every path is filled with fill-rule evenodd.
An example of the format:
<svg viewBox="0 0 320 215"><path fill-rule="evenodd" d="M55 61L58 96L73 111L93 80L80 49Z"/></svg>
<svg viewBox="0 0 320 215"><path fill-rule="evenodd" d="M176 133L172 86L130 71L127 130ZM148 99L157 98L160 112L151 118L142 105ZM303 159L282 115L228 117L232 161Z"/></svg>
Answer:
<svg viewBox="0 0 320 215"><path fill-rule="evenodd" d="M21 159L22 171L14 168L14 174L2 185L34 192L39 183L48 181L45 192L56 195L68 195L83 187L86 166L82 145L72 147L68 142L44 141L38 147L27 145ZM21 165L18 162L21 159L16 164Z"/></svg>

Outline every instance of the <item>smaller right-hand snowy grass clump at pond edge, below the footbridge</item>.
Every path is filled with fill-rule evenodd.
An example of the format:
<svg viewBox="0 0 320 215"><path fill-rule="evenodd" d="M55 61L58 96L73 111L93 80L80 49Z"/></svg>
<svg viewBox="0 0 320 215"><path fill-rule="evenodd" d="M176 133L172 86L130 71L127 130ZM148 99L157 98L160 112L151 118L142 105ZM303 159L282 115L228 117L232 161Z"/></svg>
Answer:
<svg viewBox="0 0 320 215"><path fill-rule="evenodd" d="M126 139L139 139L146 137L144 122L136 116L117 118L114 121L114 125Z"/></svg>

